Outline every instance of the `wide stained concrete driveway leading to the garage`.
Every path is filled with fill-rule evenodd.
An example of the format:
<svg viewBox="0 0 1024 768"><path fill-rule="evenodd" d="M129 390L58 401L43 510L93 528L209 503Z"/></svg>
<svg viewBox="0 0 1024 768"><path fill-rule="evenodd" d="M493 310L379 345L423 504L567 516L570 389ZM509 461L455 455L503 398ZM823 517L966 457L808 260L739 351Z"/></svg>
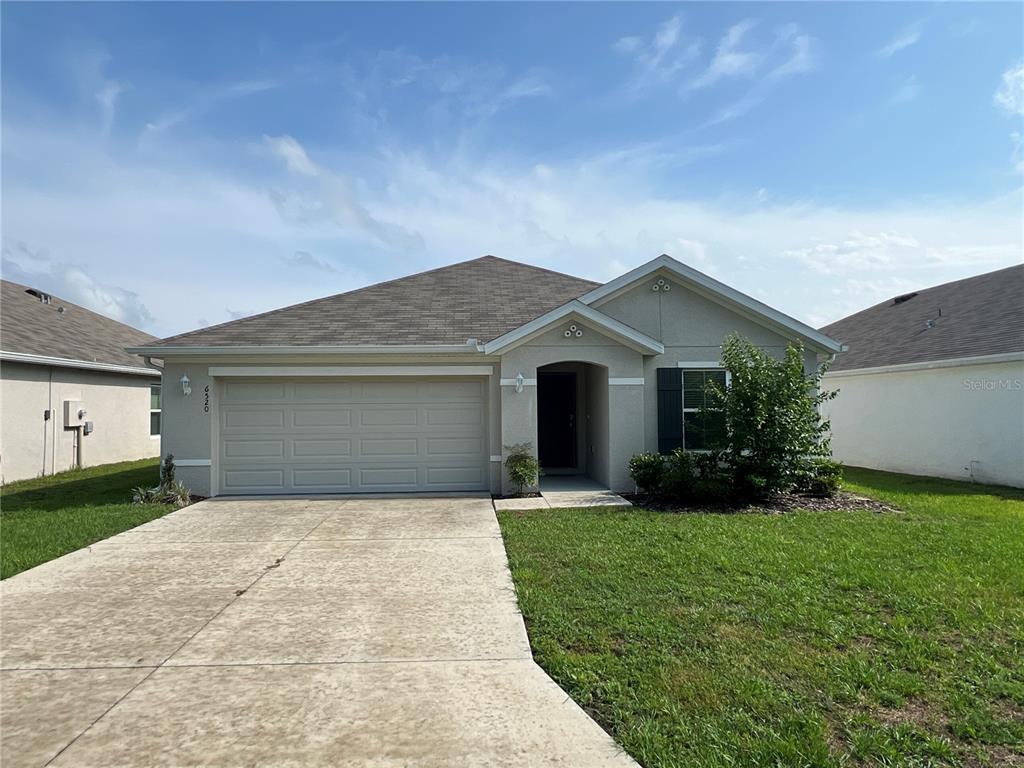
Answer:
<svg viewBox="0 0 1024 768"><path fill-rule="evenodd" d="M0 602L4 768L636 766L534 664L488 499L203 502Z"/></svg>

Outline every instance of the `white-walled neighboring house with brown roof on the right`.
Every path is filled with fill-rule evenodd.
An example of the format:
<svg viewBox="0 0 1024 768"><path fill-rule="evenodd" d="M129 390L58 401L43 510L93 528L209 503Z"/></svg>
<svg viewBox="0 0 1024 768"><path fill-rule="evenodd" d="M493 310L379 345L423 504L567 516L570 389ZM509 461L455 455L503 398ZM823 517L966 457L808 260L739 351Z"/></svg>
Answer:
<svg viewBox="0 0 1024 768"><path fill-rule="evenodd" d="M833 454L860 467L1024 486L1024 265L897 296L821 329Z"/></svg>

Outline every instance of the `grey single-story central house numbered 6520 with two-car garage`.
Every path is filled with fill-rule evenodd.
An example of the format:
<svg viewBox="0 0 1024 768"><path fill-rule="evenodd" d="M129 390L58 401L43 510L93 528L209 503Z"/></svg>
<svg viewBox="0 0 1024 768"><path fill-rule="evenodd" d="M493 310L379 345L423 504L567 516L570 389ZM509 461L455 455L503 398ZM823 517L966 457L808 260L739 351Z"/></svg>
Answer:
<svg viewBox="0 0 1024 768"><path fill-rule="evenodd" d="M633 454L700 447L733 331L809 369L840 349L668 256L604 285L485 256L130 351L165 361L164 451L199 494L507 493L523 442L626 489Z"/></svg>

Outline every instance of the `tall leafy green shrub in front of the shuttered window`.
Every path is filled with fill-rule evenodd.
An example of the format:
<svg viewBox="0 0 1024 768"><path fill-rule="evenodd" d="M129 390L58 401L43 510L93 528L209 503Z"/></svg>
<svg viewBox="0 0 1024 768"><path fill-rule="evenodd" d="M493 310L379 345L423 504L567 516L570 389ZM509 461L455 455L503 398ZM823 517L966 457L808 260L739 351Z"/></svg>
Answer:
<svg viewBox="0 0 1024 768"><path fill-rule="evenodd" d="M724 415L723 460L734 492L763 498L793 487L807 457L829 454L819 410L836 396L820 390L826 367L808 374L800 345L778 360L737 334L726 339L722 364L729 384L709 385L707 411Z"/></svg>

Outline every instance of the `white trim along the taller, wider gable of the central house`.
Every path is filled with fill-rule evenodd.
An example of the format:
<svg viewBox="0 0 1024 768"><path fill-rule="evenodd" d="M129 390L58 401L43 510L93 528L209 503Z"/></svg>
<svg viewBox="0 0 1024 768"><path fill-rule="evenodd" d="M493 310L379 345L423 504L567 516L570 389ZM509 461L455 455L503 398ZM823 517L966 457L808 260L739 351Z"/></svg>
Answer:
<svg viewBox="0 0 1024 768"><path fill-rule="evenodd" d="M654 274L659 269L664 269L683 285L695 289L698 293L708 296L708 298L741 311L755 322L759 322L774 330L781 329L796 334L815 349L831 353L843 351L843 345L840 342L825 336L820 331L777 309L772 309L767 304L744 293L740 293L734 288L729 288L724 283L720 283L714 278L697 271L680 261L676 261L671 256L665 254L648 261L646 264L641 264L636 269L628 271L620 278L615 278L615 280L605 283L603 286L595 288L593 291L585 293L578 301L589 306L600 306L624 291L633 288L640 281Z"/></svg>

